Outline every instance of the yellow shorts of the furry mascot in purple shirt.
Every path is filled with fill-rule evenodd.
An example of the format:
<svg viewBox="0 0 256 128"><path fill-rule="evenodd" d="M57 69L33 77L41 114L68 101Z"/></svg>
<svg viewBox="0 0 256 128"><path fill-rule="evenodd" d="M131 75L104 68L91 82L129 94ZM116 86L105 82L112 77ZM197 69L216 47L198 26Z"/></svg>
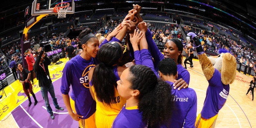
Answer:
<svg viewBox="0 0 256 128"><path fill-rule="evenodd" d="M212 128L212 125L214 124L214 121L218 117L218 114L210 119L205 119L201 117L201 113L196 117L196 128Z"/></svg>

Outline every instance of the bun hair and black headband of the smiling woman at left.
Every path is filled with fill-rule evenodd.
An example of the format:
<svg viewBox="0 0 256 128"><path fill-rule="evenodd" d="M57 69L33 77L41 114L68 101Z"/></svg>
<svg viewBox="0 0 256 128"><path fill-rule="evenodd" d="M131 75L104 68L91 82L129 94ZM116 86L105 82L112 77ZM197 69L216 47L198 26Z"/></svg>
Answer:
<svg viewBox="0 0 256 128"><path fill-rule="evenodd" d="M92 42L93 38L98 39L95 35L91 33L92 33L92 30L89 28L86 28L81 33L79 33L78 38L81 44L87 44L88 42Z"/></svg>

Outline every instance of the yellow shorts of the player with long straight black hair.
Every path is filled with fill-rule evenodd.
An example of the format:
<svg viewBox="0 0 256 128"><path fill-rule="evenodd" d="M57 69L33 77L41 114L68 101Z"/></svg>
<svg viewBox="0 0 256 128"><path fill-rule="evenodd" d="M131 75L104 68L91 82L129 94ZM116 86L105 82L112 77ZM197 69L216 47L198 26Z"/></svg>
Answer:
<svg viewBox="0 0 256 128"><path fill-rule="evenodd" d="M117 115L103 115L102 113L95 112L95 123L97 128L111 128L113 121Z"/></svg>

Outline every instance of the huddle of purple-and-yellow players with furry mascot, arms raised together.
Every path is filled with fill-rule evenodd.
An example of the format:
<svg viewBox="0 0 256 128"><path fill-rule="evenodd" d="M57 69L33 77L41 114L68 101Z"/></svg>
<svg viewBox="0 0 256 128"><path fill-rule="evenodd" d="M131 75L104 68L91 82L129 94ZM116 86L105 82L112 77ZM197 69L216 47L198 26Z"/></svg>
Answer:
<svg viewBox="0 0 256 128"><path fill-rule="evenodd" d="M188 88L190 73L182 66L183 44L172 38L161 53L140 10L133 4L101 44L90 29L79 34L83 51L66 63L60 88L68 114L79 121L80 128L214 126L235 76L230 72L231 77L222 76L223 67L227 59L229 69L236 71L232 68L234 56L221 53L223 60L215 63L222 62L223 67L215 67L196 34L187 34L209 82L203 110L196 117L196 92Z"/></svg>

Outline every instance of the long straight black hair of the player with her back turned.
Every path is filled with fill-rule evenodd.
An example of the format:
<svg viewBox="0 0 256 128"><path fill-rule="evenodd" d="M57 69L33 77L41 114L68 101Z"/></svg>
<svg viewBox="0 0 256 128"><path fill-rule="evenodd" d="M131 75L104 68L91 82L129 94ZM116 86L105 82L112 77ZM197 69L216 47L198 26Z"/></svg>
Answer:
<svg viewBox="0 0 256 128"><path fill-rule="evenodd" d="M93 86L97 99L110 105L115 97L115 88L117 88L113 65L117 64L121 55L117 47L109 43L102 45L97 55L100 63L95 66L93 71Z"/></svg>

